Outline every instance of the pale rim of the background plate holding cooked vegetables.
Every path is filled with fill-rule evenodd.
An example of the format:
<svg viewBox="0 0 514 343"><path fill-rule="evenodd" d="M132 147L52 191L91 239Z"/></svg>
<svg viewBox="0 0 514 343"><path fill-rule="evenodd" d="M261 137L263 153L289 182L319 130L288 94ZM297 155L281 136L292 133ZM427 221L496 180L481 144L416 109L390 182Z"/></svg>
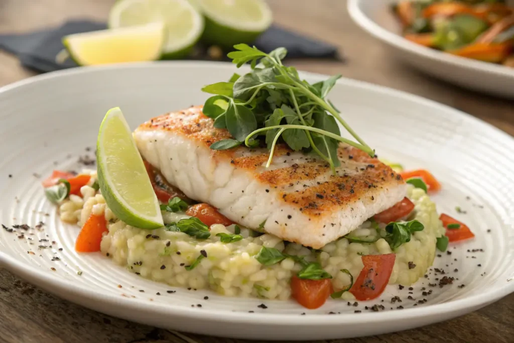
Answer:
<svg viewBox="0 0 514 343"><path fill-rule="evenodd" d="M359 4L366 0L348 0L347 9L352 20L359 25L360 28L370 33L376 39L392 45L398 49L405 50L424 58L430 58L440 63L451 64L454 67L465 68L467 70L477 69L486 73L491 73L499 77L511 78L514 80L514 69L487 63L475 61L472 59L453 56L449 53L430 49L413 42L409 42L398 34L390 32L378 25L375 21L360 10Z"/></svg>

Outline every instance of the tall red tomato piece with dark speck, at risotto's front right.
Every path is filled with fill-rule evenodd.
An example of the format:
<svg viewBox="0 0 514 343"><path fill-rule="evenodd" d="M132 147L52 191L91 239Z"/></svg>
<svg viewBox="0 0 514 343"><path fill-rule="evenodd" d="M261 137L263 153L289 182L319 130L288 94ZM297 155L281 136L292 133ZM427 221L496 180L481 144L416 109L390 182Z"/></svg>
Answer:
<svg viewBox="0 0 514 343"><path fill-rule="evenodd" d="M389 282L395 259L395 254L362 256L364 268L350 288L350 293L360 301L379 297Z"/></svg>

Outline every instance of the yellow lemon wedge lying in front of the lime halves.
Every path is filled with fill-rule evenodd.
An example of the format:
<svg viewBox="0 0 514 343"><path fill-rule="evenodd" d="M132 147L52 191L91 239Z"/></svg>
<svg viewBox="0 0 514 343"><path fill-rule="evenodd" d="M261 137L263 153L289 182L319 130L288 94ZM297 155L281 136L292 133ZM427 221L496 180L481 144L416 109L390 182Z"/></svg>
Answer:
<svg viewBox="0 0 514 343"><path fill-rule="evenodd" d="M166 40L162 23L70 34L63 44L79 65L154 61Z"/></svg>

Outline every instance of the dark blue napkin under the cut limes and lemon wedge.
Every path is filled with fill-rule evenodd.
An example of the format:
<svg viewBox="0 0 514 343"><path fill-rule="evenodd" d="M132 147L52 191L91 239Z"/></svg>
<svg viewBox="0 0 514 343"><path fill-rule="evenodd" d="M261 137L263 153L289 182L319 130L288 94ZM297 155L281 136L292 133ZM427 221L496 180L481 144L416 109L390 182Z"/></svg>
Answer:
<svg viewBox="0 0 514 343"><path fill-rule="evenodd" d="M68 59L57 63L56 56L63 49L62 38L65 35L105 29L103 23L91 21L69 21L60 27L22 34L0 34L0 49L16 55L23 66L46 73L58 69L75 67L77 64ZM324 58L341 60L335 46L290 32L277 26L271 26L254 45L269 52L283 46L287 49L287 58ZM194 59L209 60L207 47L198 45L199 53Z"/></svg>

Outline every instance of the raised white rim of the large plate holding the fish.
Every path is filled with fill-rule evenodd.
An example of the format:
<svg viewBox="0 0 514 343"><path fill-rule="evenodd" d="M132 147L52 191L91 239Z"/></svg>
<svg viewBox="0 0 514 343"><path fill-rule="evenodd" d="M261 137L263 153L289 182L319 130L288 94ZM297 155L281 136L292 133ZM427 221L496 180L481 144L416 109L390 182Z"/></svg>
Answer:
<svg viewBox="0 0 514 343"><path fill-rule="evenodd" d="M350 0L351 2L356 2L357 0ZM3 87L0 87L0 95L8 92L11 89L21 88L28 84L38 83L47 79L53 78L63 78L63 77L74 77L75 75L80 75L84 73L90 73L96 70L105 70L105 69L134 69L134 68L180 68L183 65L195 65L195 67L214 67L214 68L227 68L234 69L234 65L229 62L210 62L210 61L159 61L159 62L138 62L138 63L124 63L124 64L114 64L114 65L106 65L106 66L93 66L93 67L79 67L79 68L70 68L63 69L58 71L53 71L51 73L38 75L34 77L30 77L27 79L23 79ZM308 71L301 71L301 74L311 78L328 78L327 75L318 74L318 73L310 73ZM482 127L486 127L492 132L497 134L497 138L499 140L503 140L508 145L511 145L514 148L514 137L511 137L506 132L494 127L492 124L489 124L479 118L473 117L470 114L462 112L460 110L454 109L448 105L438 103L434 100L430 100L418 95L410 94L407 92L399 91L397 89L393 89L386 86L375 85L369 82L349 79L349 78L341 78L337 81L337 83L344 84L348 87L358 88L362 91L372 91L375 93L380 93L382 95L386 95L389 97L399 98L405 101L411 101L418 103L422 106L430 106L433 109L440 109L446 112L452 113L454 116L461 118L462 120L466 120L468 122L473 122L475 125L482 125ZM513 225L514 229L514 225ZM380 322L391 322L398 319L405 319L407 316L410 319L421 318L427 315L433 315L436 313L456 313L459 311L466 311L469 308L478 308L480 306L485 306L491 302L497 301L500 298L514 292L514 282L505 282L501 285L497 285L485 293L466 296L462 299L450 300L443 303L431 304L424 307L418 308L409 308L404 309L402 311L388 311L387 313L359 313L355 315L353 313L343 313L337 316L329 315L329 314L315 314L310 316L299 316L298 314L277 314L277 313L269 313L269 312L255 312L255 313L247 313L246 311L226 311L226 310L216 310L216 309L204 309L203 311L198 311L195 309L190 309L186 306L174 305L174 304L160 304L158 302L148 302L146 300L141 299L132 299L132 298L123 298L117 295L105 294L102 292L93 292L89 290L87 287L82 285L77 285L72 281L61 279L58 276L53 276L52 274L45 273L43 270L39 268L33 267L31 265L27 265L25 263L17 261L13 256L6 254L5 252L0 251L0 266L6 267L6 269L10 270L13 274L16 275L30 275L30 279L33 281L39 281L35 283L36 285L46 284L51 285L52 290L50 293L56 294L59 296L60 292L73 292L74 294L81 297L83 300L92 300L103 302L107 304L112 304L114 306L120 306L124 309L137 310L143 308L145 311L149 312L158 312L158 313L168 313L175 316L181 316L186 318L195 318L195 319L206 319L206 320L217 320L220 316L223 316L225 320L230 320L235 323L246 323L246 324L259 324L259 325L298 325L301 324L303 326L332 326L335 324L341 324L344 322L345 324L358 324L369 320L379 320ZM514 281L514 280L513 280ZM502 281L503 282L503 281ZM43 286L46 290L47 287ZM72 300L70 300L72 301ZM74 302L74 301L72 301ZM469 312L469 311L468 311ZM406 315L407 314L407 315Z"/></svg>

